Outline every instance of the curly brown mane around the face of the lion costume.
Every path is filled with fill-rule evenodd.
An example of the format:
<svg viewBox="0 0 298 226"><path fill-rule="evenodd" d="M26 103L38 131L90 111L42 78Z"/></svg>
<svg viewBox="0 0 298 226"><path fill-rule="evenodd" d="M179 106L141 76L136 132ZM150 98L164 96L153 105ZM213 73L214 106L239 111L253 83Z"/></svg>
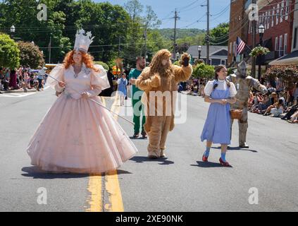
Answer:
<svg viewBox="0 0 298 226"><path fill-rule="evenodd" d="M168 51L168 49L159 50L159 52L157 52L152 58L151 64L149 64L150 73L159 73L159 76L166 76L173 73L174 66L172 62L170 62L168 67L165 67L162 64L163 59L167 59L171 56L172 54Z"/></svg>

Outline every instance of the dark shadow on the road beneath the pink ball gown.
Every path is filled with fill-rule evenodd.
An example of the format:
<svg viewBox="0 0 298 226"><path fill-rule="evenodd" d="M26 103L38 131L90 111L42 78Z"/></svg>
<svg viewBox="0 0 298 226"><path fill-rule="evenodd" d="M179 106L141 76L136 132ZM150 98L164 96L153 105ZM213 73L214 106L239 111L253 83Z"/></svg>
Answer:
<svg viewBox="0 0 298 226"><path fill-rule="evenodd" d="M75 179L75 178L84 178L84 177L92 177L92 176L104 176L108 175L116 175L115 171L106 172L102 174L74 174L74 173L54 173L54 172L46 172L39 167L23 167L22 171L26 174L22 174L23 177L32 177L33 179ZM117 174L131 174L131 172L117 169Z"/></svg>

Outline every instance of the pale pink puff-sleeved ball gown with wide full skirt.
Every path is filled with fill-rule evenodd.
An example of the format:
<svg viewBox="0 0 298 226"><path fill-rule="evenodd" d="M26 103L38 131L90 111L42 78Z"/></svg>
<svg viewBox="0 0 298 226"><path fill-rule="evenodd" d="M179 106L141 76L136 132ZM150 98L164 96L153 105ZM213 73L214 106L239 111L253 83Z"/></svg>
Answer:
<svg viewBox="0 0 298 226"><path fill-rule="evenodd" d="M75 76L73 66L65 69L59 64L50 76L64 81L63 91L58 82L48 78L47 83L58 92L63 91L46 113L32 137L27 153L32 165L49 172L96 174L117 169L137 153L137 148L108 110L82 98L101 103L101 90L109 88L106 71L99 72L82 66Z"/></svg>

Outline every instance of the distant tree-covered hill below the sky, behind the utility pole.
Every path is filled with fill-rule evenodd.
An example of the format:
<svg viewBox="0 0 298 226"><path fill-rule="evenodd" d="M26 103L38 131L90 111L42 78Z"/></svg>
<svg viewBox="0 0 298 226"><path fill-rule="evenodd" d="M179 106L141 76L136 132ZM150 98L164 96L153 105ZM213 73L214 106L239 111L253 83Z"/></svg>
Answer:
<svg viewBox="0 0 298 226"><path fill-rule="evenodd" d="M163 28L159 29L159 32L163 37L166 37L169 40L174 37L174 29ZM185 37L195 37L204 32L205 30L200 30L196 28L177 29L177 39Z"/></svg>

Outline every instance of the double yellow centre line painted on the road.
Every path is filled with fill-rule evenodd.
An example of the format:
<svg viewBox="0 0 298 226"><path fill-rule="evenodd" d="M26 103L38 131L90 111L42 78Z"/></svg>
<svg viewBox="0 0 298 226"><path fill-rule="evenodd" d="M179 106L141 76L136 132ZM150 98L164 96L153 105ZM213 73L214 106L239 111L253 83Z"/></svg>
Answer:
<svg viewBox="0 0 298 226"><path fill-rule="evenodd" d="M106 106L106 100L101 97L101 101ZM118 95L116 95L111 110L117 114L120 107L117 105ZM115 115L114 118L118 120ZM117 170L112 170L104 174L90 174L88 191L90 196L87 200L89 208L87 212L123 212L123 201L120 191ZM107 199L107 200L106 200Z"/></svg>

